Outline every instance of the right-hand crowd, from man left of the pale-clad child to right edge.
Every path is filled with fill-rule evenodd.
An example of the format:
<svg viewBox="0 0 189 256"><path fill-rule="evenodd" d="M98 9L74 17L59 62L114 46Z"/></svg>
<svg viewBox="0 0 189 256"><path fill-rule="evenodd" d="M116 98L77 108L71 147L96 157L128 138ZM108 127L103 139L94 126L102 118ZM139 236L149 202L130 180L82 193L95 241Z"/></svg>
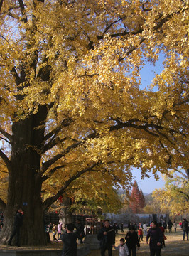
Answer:
<svg viewBox="0 0 189 256"><path fill-rule="evenodd" d="M168 230L171 232L171 228L175 228L176 232L176 223L175 220L172 223L171 220L168 221ZM167 227L167 225L166 225ZM188 240L188 221L183 219L183 223L181 225L183 229L183 240L185 240L185 235L187 236ZM138 234L136 232L136 225L129 225L129 232L126 233L125 238L120 239L120 244L115 246L115 232L114 228L110 225L109 220L104 221L104 227L99 231L97 238L100 241L100 248L101 248L101 256L105 255L105 251L108 251L108 255L112 256L112 247L116 250L119 250L119 256L136 256L136 248L140 248L140 240L143 241L143 230L144 235L146 235L146 243L149 242L150 247L150 255L151 256L161 256L161 249L162 247L166 247L165 245L165 228L163 227L162 223L157 223L156 221L152 221L150 228L147 233L147 225L144 223L141 225L139 223L138 227ZM121 228L122 231L122 228Z"/></svg>

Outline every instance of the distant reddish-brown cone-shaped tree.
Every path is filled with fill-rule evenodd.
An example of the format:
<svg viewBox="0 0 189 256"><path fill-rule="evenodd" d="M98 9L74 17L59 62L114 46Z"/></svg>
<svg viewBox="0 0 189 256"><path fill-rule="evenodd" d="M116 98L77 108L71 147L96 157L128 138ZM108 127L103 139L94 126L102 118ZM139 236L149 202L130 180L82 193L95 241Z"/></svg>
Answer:
<svg viewBox="0 0 189 256"><path fill-rule="evenodd" d="M142 191L139 190L139 186L136 181L134 181L134 186L131 191L129 207L133 213L141 213L145 206L145 199Z"/></svg>

